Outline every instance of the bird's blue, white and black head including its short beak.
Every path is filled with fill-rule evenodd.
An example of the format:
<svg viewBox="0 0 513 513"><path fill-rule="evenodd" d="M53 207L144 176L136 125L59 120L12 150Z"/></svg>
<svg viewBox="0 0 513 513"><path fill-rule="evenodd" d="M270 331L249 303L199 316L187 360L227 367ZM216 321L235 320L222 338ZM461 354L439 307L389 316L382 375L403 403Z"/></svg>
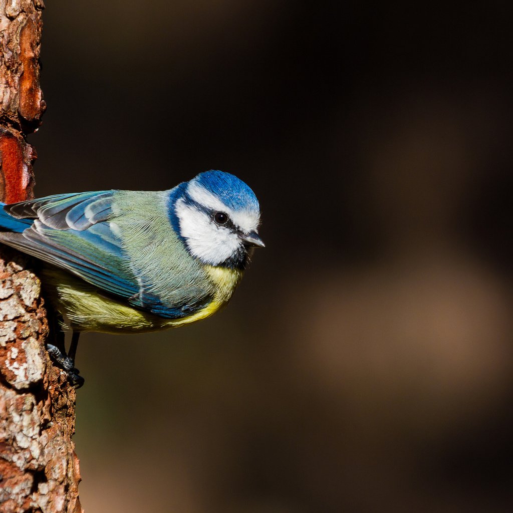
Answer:
<svg viewBox="0 0 513 513"><path fill-rule="evenodd" d="M258 234L260 206L233 174L206 171L171 192L171 220L189 253L205 264L243 269Z"/></svg>

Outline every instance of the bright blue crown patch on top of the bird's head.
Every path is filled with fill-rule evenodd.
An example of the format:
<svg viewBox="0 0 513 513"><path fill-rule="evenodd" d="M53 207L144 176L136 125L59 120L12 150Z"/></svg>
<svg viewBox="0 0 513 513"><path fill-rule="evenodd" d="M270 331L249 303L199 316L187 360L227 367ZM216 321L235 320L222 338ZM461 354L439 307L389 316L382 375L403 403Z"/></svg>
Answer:
<svg viewBox="0 0 513 513"><path fill-rule="evenodd" d="M238 177L223 171L205 171L193 179L233 210L260 211L254 192Z"/></svg>

